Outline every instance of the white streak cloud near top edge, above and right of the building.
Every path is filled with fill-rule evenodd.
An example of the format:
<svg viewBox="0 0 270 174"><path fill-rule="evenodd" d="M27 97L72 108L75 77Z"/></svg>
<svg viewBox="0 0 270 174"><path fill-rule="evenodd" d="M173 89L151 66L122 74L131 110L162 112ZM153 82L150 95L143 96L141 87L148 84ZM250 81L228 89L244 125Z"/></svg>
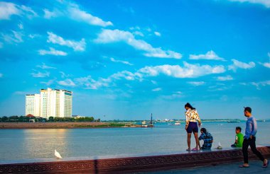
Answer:
<svg viewBox="0 0 270 174"><path fill-rule="evenodd" d="M70 4L68 6L68 12L69 17L76 21L82 21L90 25L98 25L102 27L113 25L111 21L103 21L101 18L98 18L97 16L92 16L92 14L80 10L77 4Z"/></svg>

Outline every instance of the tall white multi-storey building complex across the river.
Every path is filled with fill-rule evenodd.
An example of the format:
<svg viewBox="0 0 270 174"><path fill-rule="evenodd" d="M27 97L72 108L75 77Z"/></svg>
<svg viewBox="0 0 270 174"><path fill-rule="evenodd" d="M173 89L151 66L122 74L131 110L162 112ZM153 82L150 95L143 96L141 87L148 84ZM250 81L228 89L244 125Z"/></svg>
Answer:
<svg viewBox="0 0 270 174"><path fill-rule="evenodd" d="M28 114L46 118L71 117L72 92L48 88L41 89L41 94L26 95L26 115Z"/></svg>

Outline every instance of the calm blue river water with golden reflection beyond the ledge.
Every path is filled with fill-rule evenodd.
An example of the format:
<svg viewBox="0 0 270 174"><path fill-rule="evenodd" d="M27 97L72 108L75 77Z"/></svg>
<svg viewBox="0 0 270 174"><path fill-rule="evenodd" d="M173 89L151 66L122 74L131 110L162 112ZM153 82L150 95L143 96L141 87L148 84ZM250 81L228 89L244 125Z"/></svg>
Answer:
<svg viewBox="0 0 270 174"><path fill-rule="evenodd" d="M46 161L44 159L54 158L55 149L64 159L185 153L184 126L158 123L153 128L0 129L0 163ZM205 122L202 125L214 137L212 149L218 142L224 149L231 149L237 126L242 127L244 134L244 122ZM270 122L258 122L257 146L270 145L269 127ZM193 136L191 140L194 147Z"/></svg>

